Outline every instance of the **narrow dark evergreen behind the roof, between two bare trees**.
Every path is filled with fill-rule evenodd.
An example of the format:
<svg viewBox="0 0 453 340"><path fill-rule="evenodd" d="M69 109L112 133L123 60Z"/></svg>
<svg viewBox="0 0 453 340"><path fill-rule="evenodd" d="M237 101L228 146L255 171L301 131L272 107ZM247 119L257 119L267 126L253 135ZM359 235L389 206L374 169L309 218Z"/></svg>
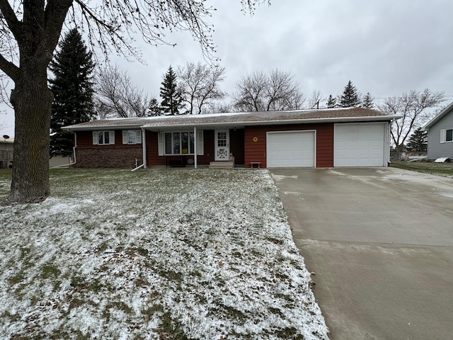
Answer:
<svg viewBox="0 0 453 340"><path fill-rule="evenodd" d="M176 73L168 67L161 86L161 108L164 114L179 115L179 110L184 107L183 94L178 88Z"/></svg>

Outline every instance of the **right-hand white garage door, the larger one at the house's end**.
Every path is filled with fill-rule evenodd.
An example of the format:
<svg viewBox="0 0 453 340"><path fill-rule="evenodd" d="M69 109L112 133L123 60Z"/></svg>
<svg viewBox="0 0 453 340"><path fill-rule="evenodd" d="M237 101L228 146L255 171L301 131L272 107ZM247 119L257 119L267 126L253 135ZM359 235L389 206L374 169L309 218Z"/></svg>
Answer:
<svg viewBox="0 0 453 340"><path fill-rule="evenodd" d="M385 124L337 124L334 166L384 166Z"/></svg>

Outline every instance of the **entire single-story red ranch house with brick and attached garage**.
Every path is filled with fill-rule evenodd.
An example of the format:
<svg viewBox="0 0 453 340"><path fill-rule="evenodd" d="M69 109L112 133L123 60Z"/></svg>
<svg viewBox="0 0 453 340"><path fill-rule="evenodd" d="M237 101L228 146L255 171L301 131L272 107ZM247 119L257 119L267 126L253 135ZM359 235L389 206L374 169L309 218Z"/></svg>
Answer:
<svg viewBox="0 0 453 340"><path fill-rule="evenodd" d="M171 115L71 125L79 167L387 166L389 124L366 108Z"/></svg>

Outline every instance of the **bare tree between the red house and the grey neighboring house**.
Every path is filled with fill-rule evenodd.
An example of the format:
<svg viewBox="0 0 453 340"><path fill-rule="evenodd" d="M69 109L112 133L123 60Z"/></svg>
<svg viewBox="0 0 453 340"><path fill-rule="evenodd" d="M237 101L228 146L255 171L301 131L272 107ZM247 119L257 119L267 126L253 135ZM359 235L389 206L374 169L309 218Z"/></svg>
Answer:
<svg viewBox="0 0 453 340"><path fill-rule="evenodd" d="M428 111L445 101L444 92L423 92L411 90L400 97L387 98L378 108L380 111L391 115L402 115L401 119L394 120L391 124L391 140L396 151L401 152L404 143L413 130L428 122L435 113Z"/></svg>

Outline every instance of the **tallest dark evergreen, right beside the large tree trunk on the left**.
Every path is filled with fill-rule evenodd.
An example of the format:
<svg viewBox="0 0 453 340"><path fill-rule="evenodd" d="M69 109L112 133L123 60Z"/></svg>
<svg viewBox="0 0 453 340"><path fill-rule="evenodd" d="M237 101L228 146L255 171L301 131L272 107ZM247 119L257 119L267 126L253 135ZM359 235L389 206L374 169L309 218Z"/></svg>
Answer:
<svg viewBox="0 0 453 340"><path fill-rule="evenodd" d="M59 44L50 70L54 79L49 79L54 94L50 120L50 157L72 154L74 135L62 127L84 123L94 118L93 82L94 68L89 52L80 33L70 30Z"/></svg>

